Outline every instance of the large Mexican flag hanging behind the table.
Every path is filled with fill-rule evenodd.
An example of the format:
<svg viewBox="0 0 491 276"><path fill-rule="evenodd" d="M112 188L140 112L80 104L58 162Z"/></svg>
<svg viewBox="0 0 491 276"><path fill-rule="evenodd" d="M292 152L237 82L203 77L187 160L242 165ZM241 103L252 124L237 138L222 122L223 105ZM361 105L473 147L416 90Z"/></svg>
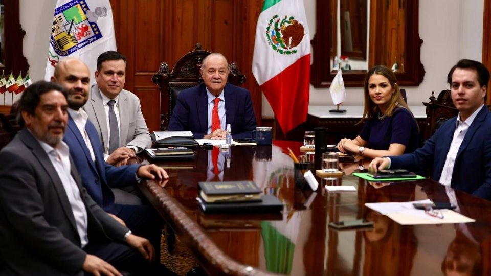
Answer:
<svg viewBox="0 0 491 276"><path fill-rule="evenodd" d="M252 73L283 133L307 119L310 36L303 0L265 0L257 20Z"/></svg>

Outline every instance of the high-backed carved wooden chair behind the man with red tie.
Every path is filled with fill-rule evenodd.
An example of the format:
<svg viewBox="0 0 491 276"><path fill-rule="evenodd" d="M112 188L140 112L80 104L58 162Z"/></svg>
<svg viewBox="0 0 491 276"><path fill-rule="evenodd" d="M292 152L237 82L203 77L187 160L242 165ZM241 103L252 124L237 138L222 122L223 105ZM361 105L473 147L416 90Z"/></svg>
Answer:
<svg viewBox="0 0 491 276"><path fill-rule="evenodd" d="M167 130L177 100L177 95L182 90L203 82L203 79L199 74L199 68L201 67L203 59L209 54L211 54L211 52L203 50L201 44L197 43L193 51L177 60L172 71L169 70L167 62L162 62L157 74L153 75L152 82L159 85L161 93L161 130ZM234 85L243 84L245 82L245 76L240 72L235 62L229 63L229 67L228 82Z"/></svg>

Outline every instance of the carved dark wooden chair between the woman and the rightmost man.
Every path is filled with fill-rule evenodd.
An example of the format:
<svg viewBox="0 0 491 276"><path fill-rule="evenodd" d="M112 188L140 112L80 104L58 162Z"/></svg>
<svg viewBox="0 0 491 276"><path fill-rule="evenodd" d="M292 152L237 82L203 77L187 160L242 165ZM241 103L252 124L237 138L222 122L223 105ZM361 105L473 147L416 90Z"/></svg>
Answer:
<svg viewBox="0 0 491 276"><path fill-rule="evenodd" d="M452 117L457 116L459 111L452 103L450 90L442 90L435 98L435 92L431 93L430 102L423 103L426 106L425 142L435 131Z"/></svg>

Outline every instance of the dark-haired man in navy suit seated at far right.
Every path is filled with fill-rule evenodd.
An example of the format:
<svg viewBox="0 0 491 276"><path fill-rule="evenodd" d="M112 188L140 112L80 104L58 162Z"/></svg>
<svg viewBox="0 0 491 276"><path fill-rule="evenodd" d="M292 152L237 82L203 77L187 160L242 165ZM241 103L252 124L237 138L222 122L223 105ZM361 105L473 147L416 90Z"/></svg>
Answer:
<svg viewBox="0 0 491 276"><path fill-rule="evenodd" d="M433 165L433 179L445 186L491 200L491 114L484 105L489 71L462 59L447 81L457 117L445 122L422 148L411 154L375 158L370 169Z"/></svg>

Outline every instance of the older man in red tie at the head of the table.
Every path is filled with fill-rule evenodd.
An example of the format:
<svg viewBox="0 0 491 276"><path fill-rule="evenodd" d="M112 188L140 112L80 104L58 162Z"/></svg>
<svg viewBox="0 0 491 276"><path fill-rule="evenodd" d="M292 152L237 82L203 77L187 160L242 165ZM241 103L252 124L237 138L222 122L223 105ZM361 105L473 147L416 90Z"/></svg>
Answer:
<svg viewBox="0 0 491 276"><path fill-rule="evenodd" d="M177 96L169 131L191 131L194 139L225 139L230 124L232 138L251 138L257 126L251 96L247 89L227 84L227 59L210 54L199 72L205 83Z"/></svg>

